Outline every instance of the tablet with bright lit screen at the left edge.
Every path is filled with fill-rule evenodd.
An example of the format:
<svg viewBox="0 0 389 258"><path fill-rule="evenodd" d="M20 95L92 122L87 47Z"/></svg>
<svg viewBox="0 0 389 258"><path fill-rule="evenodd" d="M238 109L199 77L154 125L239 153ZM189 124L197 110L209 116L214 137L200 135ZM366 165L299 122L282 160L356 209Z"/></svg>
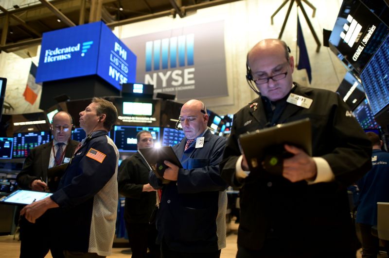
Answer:
<svg viewBox="0 0 389 258"><path fill-rule="evenodd" d="M13 204L13 205L27 205L35 201L42 200L53 193L37 192L29 190L16 190L8 196L4 196L0 199L0 203Z"/></svg>

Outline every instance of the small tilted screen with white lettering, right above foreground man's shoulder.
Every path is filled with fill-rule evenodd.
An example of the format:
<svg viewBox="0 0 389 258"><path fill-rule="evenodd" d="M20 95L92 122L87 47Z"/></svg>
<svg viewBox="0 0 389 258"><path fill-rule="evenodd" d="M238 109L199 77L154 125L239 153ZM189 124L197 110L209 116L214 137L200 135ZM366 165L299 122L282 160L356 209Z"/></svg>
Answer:
<svg viewBox="0 0 389 258"><path fill-rule="evenodd" d="M355 78L352 72L347 72L336 92L343 98L351 110L365 98L365 92L361 82Z"/></svg>

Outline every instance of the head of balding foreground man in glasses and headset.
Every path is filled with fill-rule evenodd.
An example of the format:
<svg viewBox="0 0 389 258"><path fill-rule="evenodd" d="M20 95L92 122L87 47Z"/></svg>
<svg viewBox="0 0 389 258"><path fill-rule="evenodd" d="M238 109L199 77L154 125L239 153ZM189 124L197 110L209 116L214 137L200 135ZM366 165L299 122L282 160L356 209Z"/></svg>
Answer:
<svg viewBox="0 0 389 258"><path fill-rule="evenodd" d="M264 39L248 52L248 78L261 95L271 101L280 100L289 93L293 70L293 56L289 56L288 46L282 40Z"/></svg>

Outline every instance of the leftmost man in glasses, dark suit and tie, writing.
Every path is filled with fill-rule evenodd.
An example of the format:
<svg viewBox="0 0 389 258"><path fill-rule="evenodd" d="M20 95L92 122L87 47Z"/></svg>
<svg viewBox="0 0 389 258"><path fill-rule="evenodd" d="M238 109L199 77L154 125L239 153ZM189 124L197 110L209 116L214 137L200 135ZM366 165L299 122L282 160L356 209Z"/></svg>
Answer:
<svg viewBox="0 0 389 258"><path fill-rule="evenodd" d="M52 173L51 168L68 163L78 145L71 137L72 119L67 112L60 111L53 116L50 125L53 141L36 146L31 150L17 176L19 188L33 191L57 190L61 174ZM65 171L62 169L62 171ZM58 174L59 173L59 174ZM55 211L44 214L36 223L20 219L20 257L45 257L51 250L53 258L63 257L63 250L58 239L54 238L57 229ZM52 233L53 232L53 233Z"/></svg>

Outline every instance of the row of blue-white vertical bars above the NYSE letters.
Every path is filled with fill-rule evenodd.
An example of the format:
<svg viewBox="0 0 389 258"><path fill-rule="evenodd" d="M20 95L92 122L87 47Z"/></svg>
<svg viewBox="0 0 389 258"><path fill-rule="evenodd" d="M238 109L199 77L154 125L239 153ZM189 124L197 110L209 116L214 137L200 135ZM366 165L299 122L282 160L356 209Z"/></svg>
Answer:
<svg viewBox="0 0 389 258"><path fill-rule="evenodd" d="M193 33L147 41L146 72L194 65L194 45Z"/></svg>

